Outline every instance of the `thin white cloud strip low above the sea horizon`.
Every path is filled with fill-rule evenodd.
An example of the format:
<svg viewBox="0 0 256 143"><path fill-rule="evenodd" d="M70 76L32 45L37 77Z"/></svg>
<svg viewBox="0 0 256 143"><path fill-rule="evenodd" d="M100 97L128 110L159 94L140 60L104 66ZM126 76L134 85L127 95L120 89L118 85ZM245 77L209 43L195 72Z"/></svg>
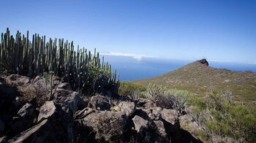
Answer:
<svg viewBox="0 0 256 143"><path fill-rule="evenodd" d="M116 53L116 52L109 52L109 53L100 53L100 55L112 55L112 56L124 56L124 57L131 57L135 58L138 61L141 61L142 58L155 58L151 55L138 55L135 53Z"/></svg>

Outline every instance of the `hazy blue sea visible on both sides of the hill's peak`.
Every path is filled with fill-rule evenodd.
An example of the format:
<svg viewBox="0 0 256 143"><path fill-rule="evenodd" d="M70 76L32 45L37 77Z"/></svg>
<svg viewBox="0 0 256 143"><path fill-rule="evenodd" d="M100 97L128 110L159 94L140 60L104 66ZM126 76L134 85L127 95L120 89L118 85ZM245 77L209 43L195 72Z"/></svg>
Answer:
<svg viewBox="0 0 256 143"><path fill-rule="evenodd" d="M154 77L173 71L192 61L173 60L164 58L142 58L140 60L132 57L105 55L105 61L109 61L112 69L116 69L120 74L121 81L138 80L141 78ZM209 66L219 69L230 69L234 71L254 71L256 64L230 63L208 61Z"/></svg>

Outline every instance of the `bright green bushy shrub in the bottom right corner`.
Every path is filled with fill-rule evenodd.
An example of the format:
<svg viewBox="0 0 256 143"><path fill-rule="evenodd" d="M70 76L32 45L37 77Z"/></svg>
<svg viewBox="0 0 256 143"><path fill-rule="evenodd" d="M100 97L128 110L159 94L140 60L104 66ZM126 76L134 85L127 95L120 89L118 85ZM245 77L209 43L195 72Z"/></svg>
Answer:
<svg viewBox="0 0 256 143"><path fill-rule="evenodd" d="M255 142L256 106L236 103L232 96L230 92L212 91L206 98L191 98L190 104L196 106L192 114L197 122L206 125L208 136Z"/></svg>

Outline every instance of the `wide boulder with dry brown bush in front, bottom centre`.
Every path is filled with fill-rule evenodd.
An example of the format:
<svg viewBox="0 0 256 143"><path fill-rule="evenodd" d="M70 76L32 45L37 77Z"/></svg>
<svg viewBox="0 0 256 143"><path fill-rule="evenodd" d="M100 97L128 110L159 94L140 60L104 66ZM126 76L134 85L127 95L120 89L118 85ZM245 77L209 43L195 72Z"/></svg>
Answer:
<svg viewBox="0 0 256 143"><path fill-rule="evenodd" d="M76 112L75 122L80 128L92 131L99 142L120 141L129 126L124 112L99 111L88 107Z"/></svg>

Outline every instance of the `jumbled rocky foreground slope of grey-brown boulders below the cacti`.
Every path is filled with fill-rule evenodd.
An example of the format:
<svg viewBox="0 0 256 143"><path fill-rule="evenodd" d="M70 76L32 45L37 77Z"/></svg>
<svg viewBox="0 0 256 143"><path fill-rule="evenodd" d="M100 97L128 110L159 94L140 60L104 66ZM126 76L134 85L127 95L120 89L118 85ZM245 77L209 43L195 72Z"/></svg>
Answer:
<svg viewBox="0 0 256 143"><path fill-rule="evenodd" d="M42 76L0 77L0 142L201 142L191 115L148 99L80 96L58 78L49 87Z"/></svg>

